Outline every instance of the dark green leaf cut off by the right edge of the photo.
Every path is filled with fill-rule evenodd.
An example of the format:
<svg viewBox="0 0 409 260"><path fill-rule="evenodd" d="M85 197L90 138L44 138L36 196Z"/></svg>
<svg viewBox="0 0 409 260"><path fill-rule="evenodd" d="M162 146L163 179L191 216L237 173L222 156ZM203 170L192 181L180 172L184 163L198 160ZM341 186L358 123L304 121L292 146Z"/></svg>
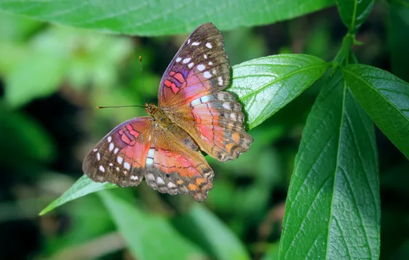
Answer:
<svg viewBox="0 0 409 260"><path fill-rule="evenodd" d="M409 158L409 84L380 68L342 69L356 99L390 141Z"/></svg>

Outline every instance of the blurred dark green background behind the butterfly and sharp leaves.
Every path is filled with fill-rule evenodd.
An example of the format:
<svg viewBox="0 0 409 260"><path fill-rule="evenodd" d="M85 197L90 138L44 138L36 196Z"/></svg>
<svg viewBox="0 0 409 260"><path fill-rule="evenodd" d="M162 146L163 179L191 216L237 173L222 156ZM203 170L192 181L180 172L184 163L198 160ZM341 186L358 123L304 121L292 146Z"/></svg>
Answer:
<svg viewBox="0 0 409 260"><path fill-rule="evenodd" d="M409 81L409 26L402 17L382 4L375 5L357 36L364 45L355 46L354 51L360 63ZM332 7L222 34L231 65L235 65L277 53L306 53L331 60L346 32ZM0 13L3 259L134 259L135 248L128 248L119 232L127 226L113 221L119 209L129 213L130 225L139 222L139 227L144 226L145 236L169 235L169 245L152 244L143 250L185 250L197 253L189 259L229 259L214 246L224 242L226 250L236 250L237 259L246 259L240 250L252 259L275 256L294 157L320 90L314 85L250 131L255 142L248 153L226 164L207 157L215 171L214 188L200 205L189 196L159 194L142 183L89 194L38 216L82 176L84 155L110 129L129 118L145 116L139 108L95 107L143 105L139 55L148 102L156 103L161 75L186 37L117 36ZM407 259L409 164L378 129L376 138L381 258ZM121 201L129 204L121 205ZM213 229L206 230L198 220Z"/></svg>

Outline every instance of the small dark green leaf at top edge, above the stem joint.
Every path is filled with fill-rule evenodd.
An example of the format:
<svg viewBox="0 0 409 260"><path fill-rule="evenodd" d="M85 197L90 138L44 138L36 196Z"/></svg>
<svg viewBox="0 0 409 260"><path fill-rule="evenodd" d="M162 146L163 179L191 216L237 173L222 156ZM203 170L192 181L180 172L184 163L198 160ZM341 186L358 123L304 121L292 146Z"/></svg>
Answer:
<svg viewBox="0 0 409 260"><path fill-rule="evenodd" d="M373 8L374 0L336 0L338 12L349 31L355 32Z"/></svg>

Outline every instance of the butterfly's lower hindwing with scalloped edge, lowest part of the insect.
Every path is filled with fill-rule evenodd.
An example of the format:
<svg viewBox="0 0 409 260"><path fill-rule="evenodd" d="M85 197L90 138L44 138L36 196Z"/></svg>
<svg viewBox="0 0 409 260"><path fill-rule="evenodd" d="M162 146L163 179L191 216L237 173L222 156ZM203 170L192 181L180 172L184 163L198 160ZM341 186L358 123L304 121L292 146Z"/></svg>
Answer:
<svg viewBox="0 0 409 260"><path fill-rule="evenodd" d="M213 187L213 170L191 137L176 125L155 128L148 151L145 180L161 193L207 198Z"/></svg>

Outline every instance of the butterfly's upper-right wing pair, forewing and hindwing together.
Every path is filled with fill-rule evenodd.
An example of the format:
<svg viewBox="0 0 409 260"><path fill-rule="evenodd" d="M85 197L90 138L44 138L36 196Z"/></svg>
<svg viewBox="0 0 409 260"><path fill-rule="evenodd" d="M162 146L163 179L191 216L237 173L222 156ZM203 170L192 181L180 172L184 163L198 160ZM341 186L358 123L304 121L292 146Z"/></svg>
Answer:
<svg viewBox="0 0 409 260"><path fill-rule="evenodd" d="M220 161L248 150L253 138L244 130L242 105L222 92L230 83L230 65L220 31L200 25L163 75L159 105L196 141Z"/></svg>

